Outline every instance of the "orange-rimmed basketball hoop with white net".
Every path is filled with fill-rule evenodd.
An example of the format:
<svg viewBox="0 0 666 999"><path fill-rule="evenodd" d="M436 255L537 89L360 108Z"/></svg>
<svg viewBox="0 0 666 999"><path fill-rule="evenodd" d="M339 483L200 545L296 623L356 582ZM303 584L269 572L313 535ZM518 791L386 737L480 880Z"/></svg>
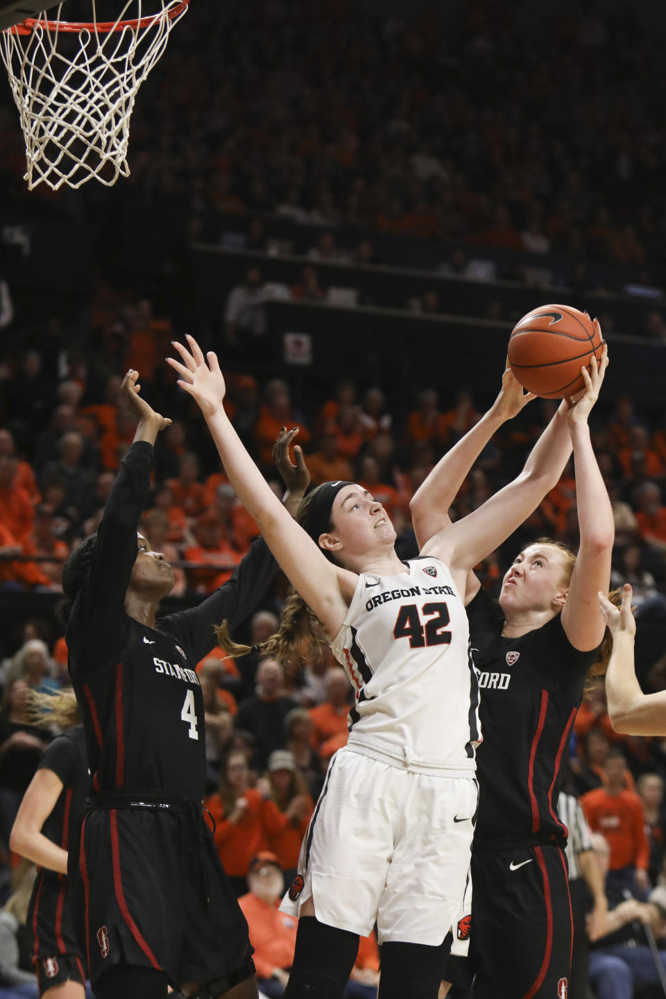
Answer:
<svg viewBox="0 0 666 999"><path fill-rule="evenodd" d="M115 21L29 18L0 32L0 54L21 115L32 191L129 176L130 118L139 87L190 0L127 0ZM121 0L123 2L123 0ZM161 9L146 15L151 3ZM137 17L124 20L128 14Z"/></svg>

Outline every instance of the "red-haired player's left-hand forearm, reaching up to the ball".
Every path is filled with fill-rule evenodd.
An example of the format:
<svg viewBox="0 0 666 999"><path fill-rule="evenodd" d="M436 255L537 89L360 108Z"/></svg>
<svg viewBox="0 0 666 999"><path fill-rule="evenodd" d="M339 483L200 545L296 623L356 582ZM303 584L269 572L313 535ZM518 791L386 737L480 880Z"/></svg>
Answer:
<svg viewBox="0 0 666 999"><path fill-rule="evenodd" d="M427 479L418 487L409 502L411 520L419 548L438 530L448 526L448 507L457 496L471 467L495 431L512 420L535 397L523 393L510 368L502 375L502 388L497 399L470 431L460 438L450 451L437 462ZM564 429L564 422L561 422ZM570 452L569 436L562 433ZM555 442L551 442L551 445ZM534 454L536 448L532 452ZM530 458L532 456L530 455ZM566 462L565 462L566 464Z"/></svg>

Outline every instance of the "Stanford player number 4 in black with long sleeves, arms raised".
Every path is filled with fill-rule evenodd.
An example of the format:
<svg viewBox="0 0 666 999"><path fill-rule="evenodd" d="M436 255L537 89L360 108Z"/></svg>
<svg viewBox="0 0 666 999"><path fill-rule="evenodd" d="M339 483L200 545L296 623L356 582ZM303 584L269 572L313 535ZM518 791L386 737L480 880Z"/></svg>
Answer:
<svg viewBox="0 0 666 999"><path fill-rule="evenodd" d="M249 616L276 562L258 540L199 606L157 618L171 566L138 525L153 446L170 423L139 396L138 420L96 535L63 571L69 667L83 718L92 794L70 851L76 911L96 996L257 995L248 926L204 820L204 702L197 663L215 626Z"/></svg>

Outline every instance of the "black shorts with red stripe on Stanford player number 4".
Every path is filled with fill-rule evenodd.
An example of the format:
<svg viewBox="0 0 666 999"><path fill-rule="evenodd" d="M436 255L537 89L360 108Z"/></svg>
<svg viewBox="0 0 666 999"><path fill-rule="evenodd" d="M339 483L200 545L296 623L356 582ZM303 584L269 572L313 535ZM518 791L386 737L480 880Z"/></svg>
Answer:
<svg viewBox="0 0 666 999"><path fill-rule="evenodd" d="M97 807L70 854L74 911L93 984L115 964L163 970L174 987L247 970L248 923L202 807Z"/></svg>

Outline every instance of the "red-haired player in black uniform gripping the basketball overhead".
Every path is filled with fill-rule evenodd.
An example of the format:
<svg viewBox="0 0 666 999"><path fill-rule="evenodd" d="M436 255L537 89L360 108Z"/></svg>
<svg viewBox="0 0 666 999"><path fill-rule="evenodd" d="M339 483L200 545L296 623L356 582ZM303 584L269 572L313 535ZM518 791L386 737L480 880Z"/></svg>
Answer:
<svg viewBox="0 0 666 999"><path fill-rule="evenodd" d="M467 585L483 733L471 863L475 999L567 995L572 944L567 830L556 805L585 677L605 630L596 594L608 590L613 515L587 418L607 363L604 350L598 370L596 362L591 376L583 369L584 393L575 403L563 402L551 425L554 446L546 431L524 481L516 484L516 501L535 507L556 483L573 446L578 555L547 540L530 544L504 576L499 606L474 578ZM511 376L505 378L508 385ZM494 417L477 425L412 500L419 541L441 528L444 505L454 499L496 424Z"/></svg>

